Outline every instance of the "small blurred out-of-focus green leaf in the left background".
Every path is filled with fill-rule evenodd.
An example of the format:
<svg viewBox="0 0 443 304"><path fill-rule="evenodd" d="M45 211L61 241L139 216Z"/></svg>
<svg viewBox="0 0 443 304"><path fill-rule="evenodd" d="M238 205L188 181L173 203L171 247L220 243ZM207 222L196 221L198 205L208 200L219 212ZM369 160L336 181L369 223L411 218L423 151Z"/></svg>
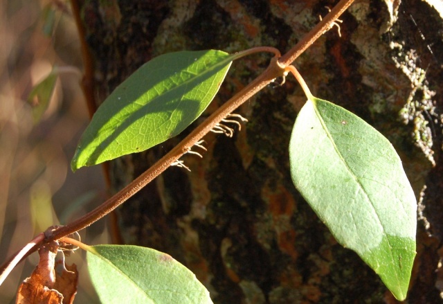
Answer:
<svg viewBox="0 0 443 304"><path fill-rule="evenodd" d="M53 96L55 82L57 81L57 71L53 69L42 82L36 84L28 95L28 102L33 107L34 123L38 123L46 109L48 109L49 101Z"/></svg>

